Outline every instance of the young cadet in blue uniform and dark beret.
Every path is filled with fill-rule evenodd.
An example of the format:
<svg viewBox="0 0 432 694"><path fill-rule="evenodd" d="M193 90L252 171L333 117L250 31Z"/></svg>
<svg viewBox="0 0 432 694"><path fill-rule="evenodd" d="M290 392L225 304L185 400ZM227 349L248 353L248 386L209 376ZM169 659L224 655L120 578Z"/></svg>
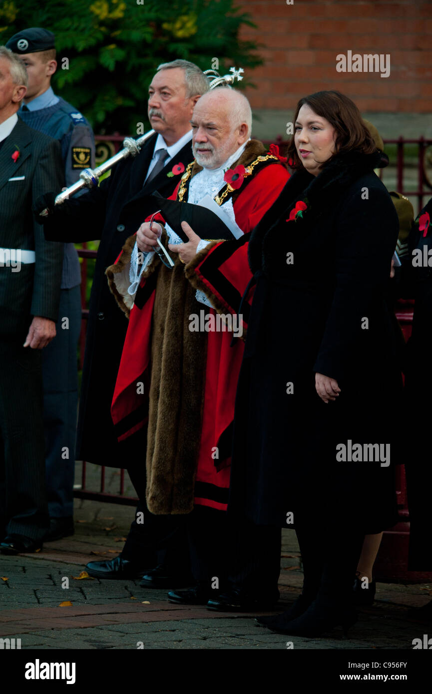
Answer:
<svg viewBox="0 0 432 694"><path fill-rule="evenodd" d="M65 183L75 183L82 169L94 167L94 136L76 108L54 94L51 75L57 67L54 35L35 27L15 34L7 47L19 55L28 89L19 117L35 130L58 139ZM76 345L81 327L81 271L74 244L65 244L57 335L43 351L44 430L50 531L45 540L74 532L73 486L78 380Z"/></svg>

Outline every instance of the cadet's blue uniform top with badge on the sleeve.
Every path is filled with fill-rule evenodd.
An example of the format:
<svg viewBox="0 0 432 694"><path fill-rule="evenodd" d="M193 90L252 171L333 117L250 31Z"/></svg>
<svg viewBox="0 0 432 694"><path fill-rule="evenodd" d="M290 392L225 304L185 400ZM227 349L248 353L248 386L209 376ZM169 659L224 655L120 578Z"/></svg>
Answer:
<svg viewBox="0 0 432 694"><path fill-rule="evenodd" d="M94 167L94 135L88 121L51 87L20 108L19 117L31 128L55 137L60 142L65 163L65 185L79 178L82 169ZM60 191L58 191L60 192ZM74 244L65 244L62 289L72 289L81 282L78 254Z"/></svg>

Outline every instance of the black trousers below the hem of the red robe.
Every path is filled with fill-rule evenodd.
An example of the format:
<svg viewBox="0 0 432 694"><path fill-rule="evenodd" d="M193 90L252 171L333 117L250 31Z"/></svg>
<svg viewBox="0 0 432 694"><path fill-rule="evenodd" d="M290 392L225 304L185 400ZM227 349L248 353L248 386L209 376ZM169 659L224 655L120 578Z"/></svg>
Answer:
<svg viewBox="0 0 432 694"><path fill-rule="evenodd" d="M280 527L255 525L224 511L197 505L188 516L188 536L195 582L221 591L237 588L252 594L277 593Z"/></svg>

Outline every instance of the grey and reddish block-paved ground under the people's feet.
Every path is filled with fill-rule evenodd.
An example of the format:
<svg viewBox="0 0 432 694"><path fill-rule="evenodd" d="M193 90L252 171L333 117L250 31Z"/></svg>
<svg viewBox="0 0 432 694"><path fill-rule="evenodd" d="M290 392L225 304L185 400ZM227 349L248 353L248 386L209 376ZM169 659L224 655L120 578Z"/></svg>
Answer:
<svg viewBox="0 0 432 694"><path fill-rule="evenodd" d="M118 479L114 471L107 475ZM74 536L46 543L35 555L0 555L0 638L21 639L22 649L35 650L285 650L289 641L296 649L404 650L427 634L422 607L432 600L432 581L378 584L374 607L360 609L349 638L340 629L323 638L300 638L256 626L252 613L170 604L166 591L142 589L138 580L80 578L88 561L117 556L133 513L131 506L76 499ZM283 530L276 611L290 606L301 582L295 533Z"/></svg>

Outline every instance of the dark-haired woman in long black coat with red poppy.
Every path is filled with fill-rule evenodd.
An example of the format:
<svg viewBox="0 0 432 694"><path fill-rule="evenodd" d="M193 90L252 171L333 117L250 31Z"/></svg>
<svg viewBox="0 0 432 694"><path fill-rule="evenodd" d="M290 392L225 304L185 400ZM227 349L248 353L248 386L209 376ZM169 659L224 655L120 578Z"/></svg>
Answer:
<svg viewBox="0 0 432 694"><path fill-rule="evenodd" d="M258 621L317 635L354 623L363 538L397 521L401 378L385 288L399 225L374 174L381 155L347 96L299 101L289 155L296 171L249 242L256 288L230 507L260 525L294 524L303 593Z"/></svg>

